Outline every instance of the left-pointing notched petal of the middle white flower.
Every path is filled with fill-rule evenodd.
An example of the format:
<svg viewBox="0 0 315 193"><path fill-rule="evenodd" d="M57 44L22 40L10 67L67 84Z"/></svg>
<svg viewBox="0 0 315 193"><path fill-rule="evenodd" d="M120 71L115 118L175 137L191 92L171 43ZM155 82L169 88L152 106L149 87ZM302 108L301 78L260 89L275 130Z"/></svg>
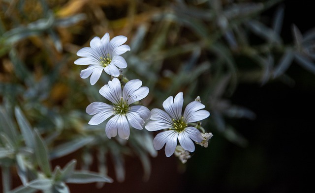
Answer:
<svg viewBox="0 0 315 193"><path fill-rule="evenodd" d="M113 106L102 102L91 103L87 107L86 112L90 115L94 115L89 121L90 125L98 125L114 115Z"/></svg>

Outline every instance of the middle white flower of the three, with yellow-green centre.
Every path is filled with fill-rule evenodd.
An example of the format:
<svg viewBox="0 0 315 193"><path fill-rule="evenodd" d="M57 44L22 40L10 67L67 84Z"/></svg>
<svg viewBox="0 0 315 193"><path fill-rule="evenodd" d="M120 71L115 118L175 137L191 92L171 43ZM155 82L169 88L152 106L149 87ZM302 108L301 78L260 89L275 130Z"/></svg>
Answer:
<svg viewBox="0 0 315 193"><path fill-rule="evenodd" d="M109 81L100 88L99 93L113 105L102 102L91 103L86 109L88 114L94 115L89 124L98 125L113 116L105 127L108 138L117 136L118 132L120 138L128 139L129 124L135 129L143 129L145 120L150 117L150 110L140 105L130 106L148 95L149 88L141 85L140 80L131 80L122 89L117 78Z"/></svg>

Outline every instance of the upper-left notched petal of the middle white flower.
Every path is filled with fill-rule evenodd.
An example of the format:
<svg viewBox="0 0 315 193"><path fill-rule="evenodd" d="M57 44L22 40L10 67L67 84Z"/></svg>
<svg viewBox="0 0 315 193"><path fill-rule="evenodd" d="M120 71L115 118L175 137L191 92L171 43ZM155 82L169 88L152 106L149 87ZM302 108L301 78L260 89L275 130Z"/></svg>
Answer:
<svg viewBox="0 0 315 193"><path fill-rule="evenodd" d="M122 97L122 85L117 78L99 89L99 94L114 104L119 104Z"/></svg>

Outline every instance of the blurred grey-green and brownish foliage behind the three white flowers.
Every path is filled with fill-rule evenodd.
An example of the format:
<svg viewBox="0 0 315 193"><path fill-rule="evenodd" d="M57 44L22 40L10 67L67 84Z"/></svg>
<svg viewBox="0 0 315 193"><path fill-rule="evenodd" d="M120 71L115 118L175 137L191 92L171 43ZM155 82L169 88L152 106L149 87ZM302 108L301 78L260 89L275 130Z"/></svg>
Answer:
<svg viewBox="0 0 315 193"><path fill-rule="evenodd" d="M273 17L263 17L277 6ZM112 181L108 158L123 181L126 156L139 157L148 179L150 157L157 155L152 134L131 129L128 141L109 140L105 123L87 124L85 108L104 100L98 89L109 77L103 74L91 86L73 61L105 32L128 37L124 74L150 88L145 106L161 108L179 91L186 104L200 96L211 113L203 122L207 132L246 146L247 139L227 121L255 118L229 101L237 85L292 84L285 72L293 60L315 73L315 30L302 34L292 24L292 42L284 43L284 19L281 0L0 0L3 192L67 193L66 183L102 186ZM52 160L69 154L74 160L52 168ZM97 173L90 171L95 162ZM20 187L11 186L15 175Z"/></svg>

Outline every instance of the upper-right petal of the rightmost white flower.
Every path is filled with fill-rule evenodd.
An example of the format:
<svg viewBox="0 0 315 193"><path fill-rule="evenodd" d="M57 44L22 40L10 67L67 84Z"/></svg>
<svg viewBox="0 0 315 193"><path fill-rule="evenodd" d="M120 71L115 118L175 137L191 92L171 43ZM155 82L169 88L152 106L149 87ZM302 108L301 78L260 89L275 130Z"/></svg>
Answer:
<svg viewBox="0 0 315 193"><path fill-rule="evenodd" d="M184 111L184 121L192 123L207 118L210 113L207 110L200 110L205 108L203 104L197 101L189 103Z"/></svg>

